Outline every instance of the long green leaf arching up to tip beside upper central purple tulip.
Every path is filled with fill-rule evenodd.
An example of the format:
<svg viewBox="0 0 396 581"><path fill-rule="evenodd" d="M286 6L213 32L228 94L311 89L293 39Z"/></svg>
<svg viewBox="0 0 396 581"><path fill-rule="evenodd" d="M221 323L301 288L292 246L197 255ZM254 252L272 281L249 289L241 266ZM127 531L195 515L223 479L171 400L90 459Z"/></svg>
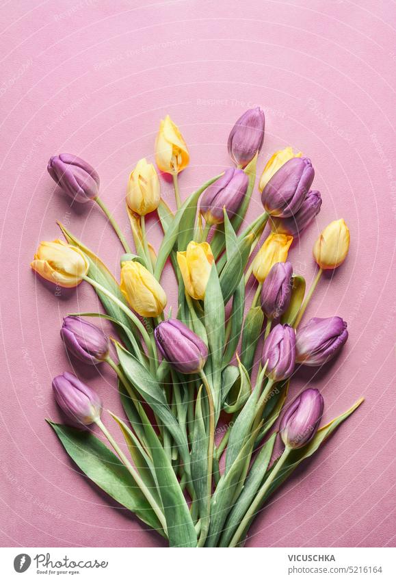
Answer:
<svg viewBox="0 0 396 581"><path fill-rule="evenodd" d="M178 209L178 211L176 211L176 216L174 216L174 220L172 221L172 223L170 223L169 227L166 229L165 235L163 236L163 240L158 251L157 262L155 263L155 272L154 272L155 278L158 281L161 278L161 274L163 271L163 267L165 266L166 260L168 259L168 256L170 255L172 248L176 244L181 224L182 224L182 229L180 231L181 241L184 241L184 238L187 237L187 234L185 235L183 234L183 231L185 229L184 220L185 219L189 220L191 211L192 209L194 209L194 207L195 207L194 212L196 212L196 204L198 202L198 198L200 197L202 192L206 190L206 188L209 185L211 185L211 183L219 179L219 177L220 175L212 179L209 179L207 182L205 182L204 185L202 185L198 190L196 190L196 192L191 194L187 198L185 203L183 203L183 205ZM189 230L188 227L187 230Z"/></svg>

